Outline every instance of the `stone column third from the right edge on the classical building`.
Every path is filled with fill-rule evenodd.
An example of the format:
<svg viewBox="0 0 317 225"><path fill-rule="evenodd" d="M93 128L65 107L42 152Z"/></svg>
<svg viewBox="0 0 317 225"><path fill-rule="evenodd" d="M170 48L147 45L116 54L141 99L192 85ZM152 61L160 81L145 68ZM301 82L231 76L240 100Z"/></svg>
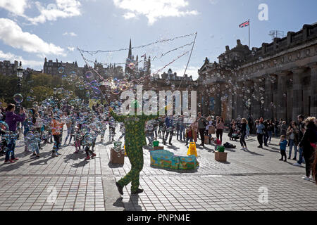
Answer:
<svg viewBox="0 0 317 225"><path fill-rule="evenodd" d="M287 120L286 72L278 75L278 120Z"/></svg>

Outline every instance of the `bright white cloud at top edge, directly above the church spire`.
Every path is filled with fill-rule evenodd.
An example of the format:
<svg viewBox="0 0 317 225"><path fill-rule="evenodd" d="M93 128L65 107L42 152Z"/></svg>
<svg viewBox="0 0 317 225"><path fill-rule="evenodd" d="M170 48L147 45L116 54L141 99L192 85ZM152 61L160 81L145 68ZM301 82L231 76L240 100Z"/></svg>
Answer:
<svg viewBox="0 0 317 225"><path fill-rule="evenodd" d="M198 14L196 10L180 11L180 8L188 6L188 1L185 0L113 0L113 4L128 11L123 14L125 19L145 15L149 25L153 25L159 18Z"/></svg>

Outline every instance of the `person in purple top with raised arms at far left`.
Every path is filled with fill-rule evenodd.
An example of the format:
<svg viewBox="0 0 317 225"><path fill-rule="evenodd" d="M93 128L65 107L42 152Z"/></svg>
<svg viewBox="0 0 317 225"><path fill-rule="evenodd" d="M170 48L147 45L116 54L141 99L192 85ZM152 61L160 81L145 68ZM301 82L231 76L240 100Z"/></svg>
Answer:
<svg viewBox="0 0 317 225"><path fill-rule="evenodd" d="M8 104L8 107L6 108L6 124L8 124L9 131L13 133L13 135L10 138L10 141L8 142L8 150L6 151L6 158L4 160L4 163L8 162L15 162L18 160L18 158L15 158L14 150L15 150L15 135L16 134L16 128L18 122L23 122L25 120L25 110L24 108L20 108L19 115L14 113L15 105L14 104ZM11 153L11 160L10 158Z"/></svg>

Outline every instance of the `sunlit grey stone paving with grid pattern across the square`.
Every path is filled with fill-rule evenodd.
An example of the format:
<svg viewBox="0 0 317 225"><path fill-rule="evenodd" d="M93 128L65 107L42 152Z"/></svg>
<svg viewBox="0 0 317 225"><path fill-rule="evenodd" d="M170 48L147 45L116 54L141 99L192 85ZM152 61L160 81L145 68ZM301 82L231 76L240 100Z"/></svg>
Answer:
<svg viewBox="0 0 317 225"><path fill-rule="evenodd" d="M223 137L228 141L227 134ZM175 139L165 149L186 155L185 144ZM130 170L130 162L108 164L111 145L97 143L97 158L89 161L84 152L73 154L73 146L52 158L52 145L46 145L35 160L18 141L18 162L5 165L0 158L0 210L317 210L316 184L302 179L305 169L293 167L293 160L278 161L278 139L259 149L256 137L250 137L249 151L229 142L237 148L227 150L225 163L214 160L213 145L197 146L200 167L188 172L150 167L144 148L144 193L130 195L128 185L120 198L114 182ZM268 203L259 203L260 187L268 188Z"/></svg>

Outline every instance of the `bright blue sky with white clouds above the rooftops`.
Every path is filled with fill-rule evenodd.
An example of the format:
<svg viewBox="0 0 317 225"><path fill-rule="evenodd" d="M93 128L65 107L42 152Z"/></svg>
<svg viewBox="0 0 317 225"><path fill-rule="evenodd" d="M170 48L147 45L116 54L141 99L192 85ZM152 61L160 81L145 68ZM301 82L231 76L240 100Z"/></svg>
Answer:
<svg viewBox="0 0 317 225"><path fill-rule="evenodd" d="M259 5L267 4L268 20L259 20ZM238 25L250 19L251 46L271 42L270 30L298 31L317 22L317 1L266 0L0 0L0 60L23 60L24 67L41 70L44 57L83 66L77 46L85 50L114 50L197 32L187 70L197 78L197 69L236 45L248 44L248 28ZM133 54L159 56L189 44L194 37L135 49ZM186 46L152 63L152 72L189 51ZM103 63L123 63L128 51L86 55ZM169 65L182 75L189 53ZM218 60L217 60L218 61Z"/></svg>

